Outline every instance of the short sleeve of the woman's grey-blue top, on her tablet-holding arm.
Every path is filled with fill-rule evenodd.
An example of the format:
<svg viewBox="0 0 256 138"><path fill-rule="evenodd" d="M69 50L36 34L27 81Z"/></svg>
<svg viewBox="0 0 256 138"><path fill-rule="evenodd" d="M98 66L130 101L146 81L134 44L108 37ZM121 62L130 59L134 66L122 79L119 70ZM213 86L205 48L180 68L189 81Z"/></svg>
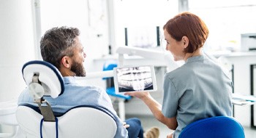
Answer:
<svg viewBox="0 0 256 138"><path fill-rule="evenodd" d="M167 118L173 118L177 114L178 93L173 81L165 75L164 97L162 102L162 113Z"/></svg>

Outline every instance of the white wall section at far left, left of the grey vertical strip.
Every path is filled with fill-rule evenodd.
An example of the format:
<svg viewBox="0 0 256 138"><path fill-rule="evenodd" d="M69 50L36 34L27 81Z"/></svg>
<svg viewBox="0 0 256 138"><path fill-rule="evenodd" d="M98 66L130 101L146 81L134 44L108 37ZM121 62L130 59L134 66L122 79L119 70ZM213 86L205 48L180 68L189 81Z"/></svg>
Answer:
<svg viewBox="0 0 256 138"><path fill-rule="evenodd" d="M25 88L21 68L34 60L31 0L0 1L0 102L18 97Z"/></svg>

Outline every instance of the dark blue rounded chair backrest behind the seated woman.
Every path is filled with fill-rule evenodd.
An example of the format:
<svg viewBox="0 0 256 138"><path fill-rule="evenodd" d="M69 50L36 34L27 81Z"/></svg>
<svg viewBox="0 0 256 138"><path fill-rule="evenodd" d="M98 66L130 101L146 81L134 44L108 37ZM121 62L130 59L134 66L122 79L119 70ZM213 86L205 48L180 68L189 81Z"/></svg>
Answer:
<svg viewBox="0 0 256 138"><path fill-rule="evenodd" d="M244 138L244 129L235 118L217 116L186 126L178 138Z"/></svg>

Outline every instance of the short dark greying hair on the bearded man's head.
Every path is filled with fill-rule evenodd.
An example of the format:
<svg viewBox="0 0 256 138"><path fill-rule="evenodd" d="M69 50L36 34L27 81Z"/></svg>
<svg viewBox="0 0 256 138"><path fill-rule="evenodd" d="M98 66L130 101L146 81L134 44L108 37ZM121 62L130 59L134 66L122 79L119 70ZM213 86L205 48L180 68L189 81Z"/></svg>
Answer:
<svg viewBox="0 0 256 138"><path fill-rule="evenodd" d="M80 35L78 28L52 28L45 32L40 41L42 60L60 68L61 58L72 57L75 38Z"/></svg>

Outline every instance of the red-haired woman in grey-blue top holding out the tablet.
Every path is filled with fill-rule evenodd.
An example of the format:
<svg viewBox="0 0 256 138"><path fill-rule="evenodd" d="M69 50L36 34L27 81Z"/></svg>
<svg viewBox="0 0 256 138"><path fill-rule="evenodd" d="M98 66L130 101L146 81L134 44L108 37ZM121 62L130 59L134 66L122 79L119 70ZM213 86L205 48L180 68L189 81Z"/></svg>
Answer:
<svg viewBox="0 0 256 138"><path fill-rule="evenodd" d="M184 65L165 74L162 105L148 92L126 93L138 97L157 120L175 130L167 137L178 138L182 129L194 121L213 116L230 116L233 84L222 68L202 52L208 37L203 20L183 12L164 25L166 50Z"/></svg>

